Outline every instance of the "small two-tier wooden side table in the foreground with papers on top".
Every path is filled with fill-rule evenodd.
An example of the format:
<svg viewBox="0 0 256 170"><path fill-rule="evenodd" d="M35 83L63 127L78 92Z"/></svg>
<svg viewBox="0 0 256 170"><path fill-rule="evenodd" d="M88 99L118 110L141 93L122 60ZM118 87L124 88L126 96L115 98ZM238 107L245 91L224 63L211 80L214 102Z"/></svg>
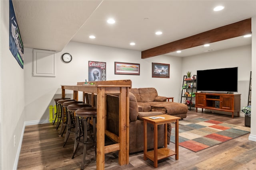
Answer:
<svg viewBox="0 0 256 170"><path fill-rule="evenodd" d="M165 119L150 119L148 117L142 117L144 120L144 160L150 159L154 161L154 167L158 167L158 160L167 158L169 156L175 155L175 159L179 159L179 119L180 117L171 116L171 115L157 115L156 117L164 117ZM167 147L167 123L175 122L175 151ZM148 152L148 141L147 141L147 123L154 125L154 150ZM158 125L164 124L164 147L158 149Z"/></svg>

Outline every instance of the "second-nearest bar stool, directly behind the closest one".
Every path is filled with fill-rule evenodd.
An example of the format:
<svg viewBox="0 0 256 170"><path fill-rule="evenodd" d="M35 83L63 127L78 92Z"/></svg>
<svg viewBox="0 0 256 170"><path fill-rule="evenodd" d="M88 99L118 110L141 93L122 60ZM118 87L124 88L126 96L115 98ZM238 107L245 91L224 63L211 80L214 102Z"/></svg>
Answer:
<svg viewBox="0 0 256 170"><path fill-rule="evenodd" d="M67 105L67 103L68 102L64 102L63 107L65 107L65 105ZM91 107L91 105L90 104L84 104L84 103L76 103L76 104L70 104L70 105L67 106L67 109L66 109L67 123L66 123L66 125L68 126L68 129L66 131L63 147L65 147L70 133L75 133L75 131L72 131L72 125L74 125L74 127L76 125L75 124L75 119L74 119L74 112L77 109L80 109L82 107Z"/></svg>

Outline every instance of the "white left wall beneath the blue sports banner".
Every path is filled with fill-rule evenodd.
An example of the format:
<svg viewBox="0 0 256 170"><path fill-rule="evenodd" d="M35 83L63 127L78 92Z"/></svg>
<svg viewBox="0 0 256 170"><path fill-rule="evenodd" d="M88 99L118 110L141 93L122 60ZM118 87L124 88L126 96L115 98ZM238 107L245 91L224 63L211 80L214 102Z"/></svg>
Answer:
<svg viewBox="0 0 256 170"><path fill-rule="evenodd" d="M9 1L0 1L0 18L0 169L12 170L24 127L24 70L9 50Z"/></svg>

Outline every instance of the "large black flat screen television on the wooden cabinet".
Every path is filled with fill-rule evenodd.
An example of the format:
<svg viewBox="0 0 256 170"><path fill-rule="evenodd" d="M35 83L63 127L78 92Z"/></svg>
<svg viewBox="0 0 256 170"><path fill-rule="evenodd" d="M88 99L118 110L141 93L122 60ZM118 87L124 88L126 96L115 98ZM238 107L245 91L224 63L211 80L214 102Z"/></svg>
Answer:
<svg viewBox="0 0 256 170"><path fill-rule="evenodd" d="M196 89L201 92L238 92L238 67L197 70Z"/></svg>

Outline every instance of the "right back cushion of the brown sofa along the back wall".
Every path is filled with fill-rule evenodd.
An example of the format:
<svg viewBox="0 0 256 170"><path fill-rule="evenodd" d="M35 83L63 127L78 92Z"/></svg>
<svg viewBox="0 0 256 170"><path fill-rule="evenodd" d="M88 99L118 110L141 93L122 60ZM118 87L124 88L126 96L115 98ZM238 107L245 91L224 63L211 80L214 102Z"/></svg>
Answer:
<svg viewBox="0 0 256 170"><path fill-rule="evenodd" d="M158 96L155 88L138 88L140 93L140 102L154 102L156 96Z"/></svg>

